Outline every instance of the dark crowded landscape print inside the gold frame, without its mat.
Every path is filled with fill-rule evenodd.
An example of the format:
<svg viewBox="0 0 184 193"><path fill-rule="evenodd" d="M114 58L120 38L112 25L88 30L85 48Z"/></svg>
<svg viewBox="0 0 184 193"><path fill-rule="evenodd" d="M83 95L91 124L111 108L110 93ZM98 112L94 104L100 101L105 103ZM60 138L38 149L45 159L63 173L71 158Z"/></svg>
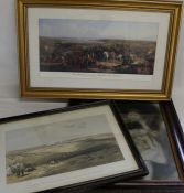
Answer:
<svg viewBox="0 0 184 193"><path fill-rule="evenodd" d="M40 19L40 71L153 75L158 23Z"/></svg>

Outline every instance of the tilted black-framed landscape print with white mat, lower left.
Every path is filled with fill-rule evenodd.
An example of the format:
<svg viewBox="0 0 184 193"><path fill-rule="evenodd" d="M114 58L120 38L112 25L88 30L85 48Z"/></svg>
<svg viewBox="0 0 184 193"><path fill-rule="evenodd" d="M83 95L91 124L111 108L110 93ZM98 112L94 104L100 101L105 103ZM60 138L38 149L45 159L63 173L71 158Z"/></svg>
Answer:
<svg viewBox="0 0 184 193"><path fill-rule="evenodd" d="M3 193L79 191L148 173L111 103L0 121Z"/></svg>

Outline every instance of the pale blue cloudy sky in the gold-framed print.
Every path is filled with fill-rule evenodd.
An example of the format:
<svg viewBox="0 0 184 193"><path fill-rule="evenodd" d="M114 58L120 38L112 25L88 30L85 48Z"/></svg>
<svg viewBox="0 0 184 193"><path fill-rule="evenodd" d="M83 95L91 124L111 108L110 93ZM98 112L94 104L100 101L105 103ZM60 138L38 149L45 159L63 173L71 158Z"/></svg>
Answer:
<svg viewBox="0 0 184 193"><path fill-rule="evenodd" d="M159 24L104 20L40 19L39 31L40 36L47 37L155 41Z"/></svg>

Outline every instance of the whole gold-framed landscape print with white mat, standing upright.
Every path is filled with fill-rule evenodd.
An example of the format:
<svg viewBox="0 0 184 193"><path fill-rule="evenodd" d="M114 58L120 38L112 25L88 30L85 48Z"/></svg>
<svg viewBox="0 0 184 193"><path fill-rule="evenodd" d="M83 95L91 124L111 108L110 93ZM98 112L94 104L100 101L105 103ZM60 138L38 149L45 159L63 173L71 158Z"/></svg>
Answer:
<svg viewBox="0 0 184 193"><path fill-rule="evenodd" d="M182 2L18 0L22 97L170 98Z"/></svg>

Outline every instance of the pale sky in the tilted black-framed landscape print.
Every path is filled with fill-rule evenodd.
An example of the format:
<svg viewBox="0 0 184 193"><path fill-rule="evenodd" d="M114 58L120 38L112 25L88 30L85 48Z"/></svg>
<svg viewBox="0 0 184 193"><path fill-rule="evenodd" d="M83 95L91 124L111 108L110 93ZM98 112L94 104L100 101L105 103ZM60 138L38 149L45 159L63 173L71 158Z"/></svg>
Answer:
<svg viewBox="0 0 184 193"><path fill-rule="evenodd" d="M85 117L85 119L71 119L68 121L58 121L45 126L41 125L7 131L6 150L7 152L21 150L109 132L111 132L111 129L105 115Z"/></svg>

